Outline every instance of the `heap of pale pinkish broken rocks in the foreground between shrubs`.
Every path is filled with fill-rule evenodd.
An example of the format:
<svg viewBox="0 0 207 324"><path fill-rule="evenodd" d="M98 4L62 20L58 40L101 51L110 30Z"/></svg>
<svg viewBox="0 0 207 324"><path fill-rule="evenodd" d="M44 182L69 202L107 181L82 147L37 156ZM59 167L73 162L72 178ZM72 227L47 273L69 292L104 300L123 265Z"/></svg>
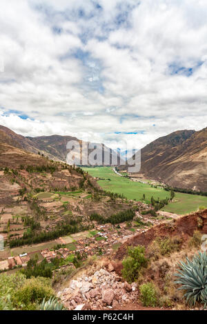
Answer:
<svg viewBox="0 0 207 324"><path fill-rule="evenodd" d="M137 301L137 294L135 283L130 285L116 272L101 269L92 276L70 281L70 286L57 296L68 310L108 310Z"/></svg>

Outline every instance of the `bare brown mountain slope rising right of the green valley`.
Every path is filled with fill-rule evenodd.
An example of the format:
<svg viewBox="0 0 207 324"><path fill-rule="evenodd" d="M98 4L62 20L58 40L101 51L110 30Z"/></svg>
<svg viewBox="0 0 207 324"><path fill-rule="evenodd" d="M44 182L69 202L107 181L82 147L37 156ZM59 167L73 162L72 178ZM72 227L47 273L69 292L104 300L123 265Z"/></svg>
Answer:
<svg viewBox="0 0 207 324"><path fill-rule="evenodd" d="M206 170L207 128L173 132L141 150L139 173L172 187L207 191Z"/></svg>

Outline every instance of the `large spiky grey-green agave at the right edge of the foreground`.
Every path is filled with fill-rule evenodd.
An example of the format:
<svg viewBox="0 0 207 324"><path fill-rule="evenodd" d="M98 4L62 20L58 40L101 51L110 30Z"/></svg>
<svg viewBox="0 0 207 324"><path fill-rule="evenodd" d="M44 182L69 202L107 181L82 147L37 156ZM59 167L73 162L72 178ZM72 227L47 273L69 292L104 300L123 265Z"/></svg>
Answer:
<svg viewBox="0 0 207 324"><path fill-rule="evenodd" d="M199 252L193 260L186 258L186 263L180 261L178 273L175 274L178 280L175 283L181 285L179 290L184 290L184 298L190 305L196 302L207 305L207 254Z"/></svg>

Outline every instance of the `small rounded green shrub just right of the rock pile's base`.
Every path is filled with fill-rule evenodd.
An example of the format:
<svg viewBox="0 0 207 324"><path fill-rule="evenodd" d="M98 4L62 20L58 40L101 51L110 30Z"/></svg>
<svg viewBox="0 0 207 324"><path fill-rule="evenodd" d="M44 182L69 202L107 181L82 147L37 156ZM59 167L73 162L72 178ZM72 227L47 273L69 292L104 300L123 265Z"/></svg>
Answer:
<svg viewBox="0 0 207 324"><path fill-rule="evenodd" d="M157 289L153 283L144 283L139 287L140 299L144 306L155 307L158 303Z"/></svg>

